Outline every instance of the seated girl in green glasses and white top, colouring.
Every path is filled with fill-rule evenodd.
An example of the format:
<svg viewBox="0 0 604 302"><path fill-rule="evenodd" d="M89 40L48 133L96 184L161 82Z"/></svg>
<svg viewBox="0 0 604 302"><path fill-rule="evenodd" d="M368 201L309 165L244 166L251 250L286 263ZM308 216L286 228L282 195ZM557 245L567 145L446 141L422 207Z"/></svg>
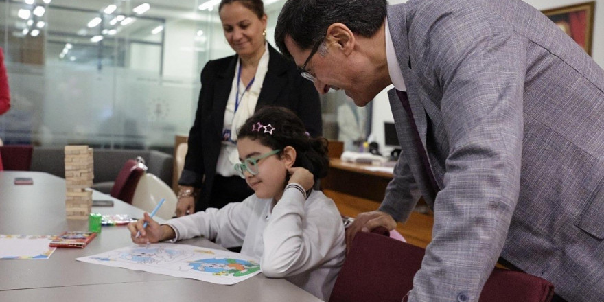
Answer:
<svg viewBox="0 0 604 302"><path fill-rule="evenodd" d="M225 248L242 246L242 254L260 259L264 275L285 277L327 300L346 251L334 201L312 190L327 174L327 141L310 137L294 113L278 107L257 111L238 137L241 163L235 170L253 189L252 196L166 224L145 213L143 220L128 225L132 241L203 236Z"/></svg>

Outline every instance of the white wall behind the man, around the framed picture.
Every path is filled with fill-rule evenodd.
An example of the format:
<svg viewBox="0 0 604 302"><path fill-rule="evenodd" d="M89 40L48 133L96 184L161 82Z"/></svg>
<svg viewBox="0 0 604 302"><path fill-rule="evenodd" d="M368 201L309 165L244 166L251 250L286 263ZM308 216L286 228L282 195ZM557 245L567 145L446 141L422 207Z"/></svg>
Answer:
<svg viewBox="0 0 604 302"><path fill-rule="evenodd" d="M397 4L406 1L391 0L389 3ZM585 0L526 0L526 3L533 5L538 10L548 10L550 8L559 8L561 6L585 3ZM592 34L592 58L601 67L604 68L604 0L596 0L596 12L594 14L594 32ZM388 95L386 91L392 86L387 87L373 100L373 121L371 129L375 140L380 146L384 146L384 121L394 121ZM389 150L386 150L389 152Z"/></svg>

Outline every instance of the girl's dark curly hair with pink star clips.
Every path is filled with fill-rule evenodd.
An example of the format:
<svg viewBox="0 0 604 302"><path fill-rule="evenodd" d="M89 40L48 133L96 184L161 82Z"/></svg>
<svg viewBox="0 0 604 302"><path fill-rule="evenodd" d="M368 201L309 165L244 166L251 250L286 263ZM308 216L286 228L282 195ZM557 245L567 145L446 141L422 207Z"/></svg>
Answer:
<svg viewBox="0 0 604 302"><path fill-rule="evenodd" d="M271 134L272 128L275 129ZM287 108L265 106L259 109L239 128L237 139L244 137L259 141L272 150L292 146L297 153L294 167L310 171L314 181L327 176L327 139L310 137L301 119Z"/></svg>

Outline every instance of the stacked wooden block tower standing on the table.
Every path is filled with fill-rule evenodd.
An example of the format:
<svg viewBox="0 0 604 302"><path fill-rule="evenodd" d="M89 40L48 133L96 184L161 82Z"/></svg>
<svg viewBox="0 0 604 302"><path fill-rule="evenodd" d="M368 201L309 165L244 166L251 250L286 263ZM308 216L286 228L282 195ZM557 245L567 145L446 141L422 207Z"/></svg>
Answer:
<svg viewBox="0 0 604 302"><path fill-rule="evenodd" d="M88 219L92 208L93 149L65 146L65 210L67 218Z"/></svg>

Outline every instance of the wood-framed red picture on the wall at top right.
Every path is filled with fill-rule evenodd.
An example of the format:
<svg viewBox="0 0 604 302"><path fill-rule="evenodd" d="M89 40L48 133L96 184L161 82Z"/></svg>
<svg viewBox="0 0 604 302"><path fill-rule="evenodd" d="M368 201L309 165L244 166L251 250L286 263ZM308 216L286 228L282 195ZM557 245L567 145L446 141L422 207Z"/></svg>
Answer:
<svg viewBox="0 0 604 302"><path fill-rule="evenodd" d="M591 56L595 6L591 1L542 12Z"/></svg>

